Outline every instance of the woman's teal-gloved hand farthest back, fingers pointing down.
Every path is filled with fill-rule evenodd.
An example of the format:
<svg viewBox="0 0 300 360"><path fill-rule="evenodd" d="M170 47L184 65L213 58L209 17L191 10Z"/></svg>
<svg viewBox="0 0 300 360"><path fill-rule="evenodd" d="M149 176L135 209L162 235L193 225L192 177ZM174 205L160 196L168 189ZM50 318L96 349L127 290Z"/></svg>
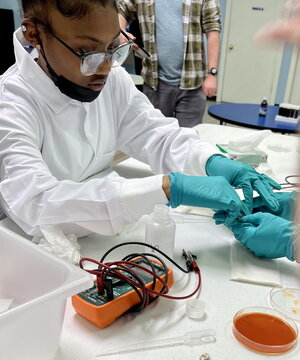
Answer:
<svg viewBox="0 0 300 360"><path fill-rule="evenodd" d="M235 188L242 188L245 204L252 213L253 190L262 197L264 205L277 211L278 200L272 188L281 189L281 186L266 175L259 174L251 166L227 159L222 155L213 155L206 164L206 172L209 176L224 176Z"/></svg>

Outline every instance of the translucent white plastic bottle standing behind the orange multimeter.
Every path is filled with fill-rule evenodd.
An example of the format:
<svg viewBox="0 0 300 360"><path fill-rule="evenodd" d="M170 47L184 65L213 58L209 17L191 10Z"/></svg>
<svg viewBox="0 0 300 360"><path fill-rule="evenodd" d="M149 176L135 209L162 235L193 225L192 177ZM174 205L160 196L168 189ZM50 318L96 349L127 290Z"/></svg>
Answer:
<svg viewBox="0 0 300 360"><path fill-rule="evenodd" d="M169 215L169 207L162 204L155 205L153 214L148 216L146 222L146 243L155 246L173 259L175 230L176 225ZM145 250L146 252L152 251L147 247ZM160 256L160 254L157 255ZM162 259L167 263L167 265L170 265L163 256Z"/></svg>

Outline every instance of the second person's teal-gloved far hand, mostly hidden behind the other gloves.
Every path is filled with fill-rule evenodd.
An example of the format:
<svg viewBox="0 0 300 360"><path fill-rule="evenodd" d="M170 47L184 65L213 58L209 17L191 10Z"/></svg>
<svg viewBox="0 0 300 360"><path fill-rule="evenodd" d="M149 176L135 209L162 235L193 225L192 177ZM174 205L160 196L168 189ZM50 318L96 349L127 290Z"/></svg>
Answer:
<svg viewBox="0 0 300 360"><path fill-rule="evenodd" d="M274 193L278 200L279 208L273 211L264 204L264 200L258 196L253 199L253 212L268 212L280 216L286 220L293 220L294 208L296 204L296 192Z"/></svg>

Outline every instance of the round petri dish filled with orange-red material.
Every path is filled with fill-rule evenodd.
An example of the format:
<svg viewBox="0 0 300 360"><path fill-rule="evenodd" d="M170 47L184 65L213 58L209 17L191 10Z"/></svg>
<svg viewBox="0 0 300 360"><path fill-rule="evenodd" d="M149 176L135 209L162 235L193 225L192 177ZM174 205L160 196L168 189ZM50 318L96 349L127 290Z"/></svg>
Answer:
<svg viewBox="0 0 300 360"><path fill-rule="evenodd" d="M283 354L296 345L298 337L292 319L264 307L249 307L237 312L232 331L242 345L263 354Z"/></svg>

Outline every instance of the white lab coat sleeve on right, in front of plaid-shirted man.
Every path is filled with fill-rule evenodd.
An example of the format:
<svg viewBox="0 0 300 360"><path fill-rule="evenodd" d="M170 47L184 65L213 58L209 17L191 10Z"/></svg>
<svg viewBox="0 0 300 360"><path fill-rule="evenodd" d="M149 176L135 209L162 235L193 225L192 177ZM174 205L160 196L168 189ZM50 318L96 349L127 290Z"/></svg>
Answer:
<svg viewBox="0 0 300 360"><path fill-rule="evenodd" d="M117 82L113 88L120 89L114 97L122 151L149 164L155 174L178 171L207 175L208 158L220 153L215 145L199 138L194 129L181 128L175 118L164 117L154 109L123 69L115 73L112 81Z"/></svg>

